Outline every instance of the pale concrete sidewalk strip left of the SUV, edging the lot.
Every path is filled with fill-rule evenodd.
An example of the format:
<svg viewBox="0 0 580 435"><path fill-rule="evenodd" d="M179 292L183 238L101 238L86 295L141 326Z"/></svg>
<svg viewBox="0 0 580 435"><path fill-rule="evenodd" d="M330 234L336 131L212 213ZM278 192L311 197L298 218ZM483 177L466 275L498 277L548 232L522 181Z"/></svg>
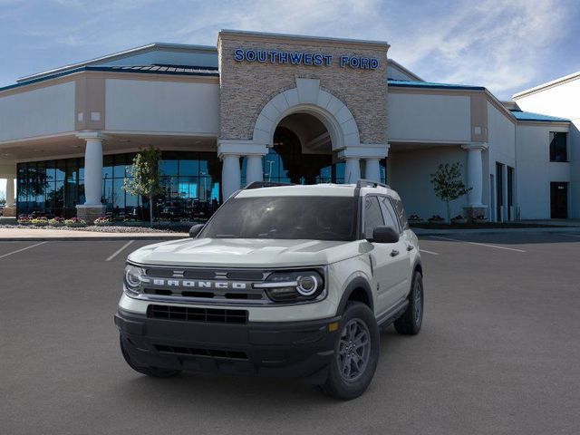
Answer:
<svg viewBox="0 0 580 435"><path fill-rule="evenodd" d="M75 229L0 228L0 242L36 240L163 240L189 237L188 233L106 233Z"/></svg>

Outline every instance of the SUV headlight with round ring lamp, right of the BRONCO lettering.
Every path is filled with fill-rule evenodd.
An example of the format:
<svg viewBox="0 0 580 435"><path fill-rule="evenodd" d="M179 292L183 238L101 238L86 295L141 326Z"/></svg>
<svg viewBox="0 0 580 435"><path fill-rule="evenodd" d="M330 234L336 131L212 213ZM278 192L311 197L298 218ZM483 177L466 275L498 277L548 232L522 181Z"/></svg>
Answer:
<svg viewBox="0 0 580 435"><path fill-rule="evenodd" d="M274 302L311 301L324 293L322 272L322 270L274 272L264 283L255 284L254 287L263 288Z"/></svg>

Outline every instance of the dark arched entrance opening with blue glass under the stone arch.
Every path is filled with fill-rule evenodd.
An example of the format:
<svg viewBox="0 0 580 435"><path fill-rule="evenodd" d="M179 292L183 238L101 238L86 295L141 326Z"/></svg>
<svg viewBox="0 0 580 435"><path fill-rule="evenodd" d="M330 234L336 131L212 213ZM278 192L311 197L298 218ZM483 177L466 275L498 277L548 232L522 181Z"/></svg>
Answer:
<svg viewBox="0 0 580 435"><path fill-rule="evenodd" d="M275 129L273 147L264 159L266 181L296 184L342 183L344 164L333 153L323 122L309 113L293 113Z"/></svg>

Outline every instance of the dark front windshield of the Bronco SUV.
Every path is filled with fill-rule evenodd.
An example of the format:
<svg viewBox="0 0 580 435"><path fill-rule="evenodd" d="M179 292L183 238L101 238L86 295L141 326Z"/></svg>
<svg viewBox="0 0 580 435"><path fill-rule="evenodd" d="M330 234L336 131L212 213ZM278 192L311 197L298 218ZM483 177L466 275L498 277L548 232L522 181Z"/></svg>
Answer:
<svg viewBox="0 0 580 435"><path fill-rule="evenodd" d="M231 198L199 237L354 240L356 198Z"/></svg>

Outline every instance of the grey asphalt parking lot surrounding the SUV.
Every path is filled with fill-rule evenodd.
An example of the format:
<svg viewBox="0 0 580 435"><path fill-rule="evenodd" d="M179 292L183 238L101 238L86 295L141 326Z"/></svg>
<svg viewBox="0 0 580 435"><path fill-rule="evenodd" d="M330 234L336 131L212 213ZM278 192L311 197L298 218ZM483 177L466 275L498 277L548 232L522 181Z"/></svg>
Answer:
<svg viewBox="0 0 580 435"><path fill-rule="evenodd" d="M131 371L112 314L125 256L151 242L127 243L0 242L0 433L578 433L578 235L423 238L423 330L383 332L372 385L348 402Z"/></svg>

